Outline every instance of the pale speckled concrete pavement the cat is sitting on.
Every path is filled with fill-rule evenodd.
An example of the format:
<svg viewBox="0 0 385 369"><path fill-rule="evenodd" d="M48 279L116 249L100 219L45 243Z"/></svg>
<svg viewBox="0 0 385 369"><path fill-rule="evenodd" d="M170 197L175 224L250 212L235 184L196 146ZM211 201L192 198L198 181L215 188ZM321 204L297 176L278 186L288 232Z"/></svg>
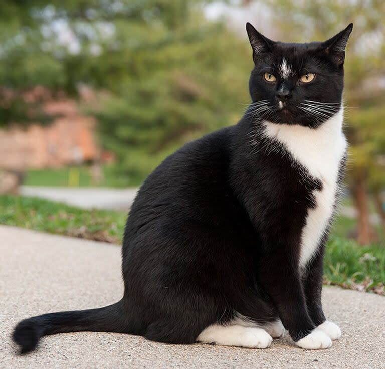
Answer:
<svg viewBox="0 0 385 369"><path fill-rule="evenodd" d="M117 333L44 337L17 354L15 324L26 317L86 309L122 296L120 247L0 226L0 368L385 368L385 298L325 287L324 308L342 337L326 350L303 350L290 337L265 350L167 345Z"/></svg>

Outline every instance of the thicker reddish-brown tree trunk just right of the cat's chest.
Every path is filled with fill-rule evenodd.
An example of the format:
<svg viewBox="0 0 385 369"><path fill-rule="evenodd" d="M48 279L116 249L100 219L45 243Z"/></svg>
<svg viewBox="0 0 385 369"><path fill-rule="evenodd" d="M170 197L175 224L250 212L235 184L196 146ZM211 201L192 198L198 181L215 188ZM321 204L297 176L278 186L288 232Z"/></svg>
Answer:
<svg viewBox="0 0 385 369"><path fill-rule="evenodd" d="M369 202L366 193L365 179L362 175L354 178L351 192L358 211L357 241L361 245L367 245L371 241L373 230L369 219Z"/></svg>

